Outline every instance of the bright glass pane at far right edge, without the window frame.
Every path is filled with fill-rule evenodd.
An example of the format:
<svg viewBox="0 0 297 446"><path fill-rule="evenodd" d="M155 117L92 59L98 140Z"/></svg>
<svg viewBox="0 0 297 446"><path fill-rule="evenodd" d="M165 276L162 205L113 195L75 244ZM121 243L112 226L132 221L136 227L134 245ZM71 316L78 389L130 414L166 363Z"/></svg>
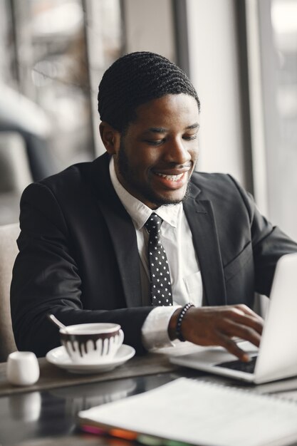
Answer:
<svg viewBox="0 0 297 446"><path fill-rule="evenodd" d="M278 135L269 202L273 220L297 239L297 0L273 0L271 24Z"/></svg>

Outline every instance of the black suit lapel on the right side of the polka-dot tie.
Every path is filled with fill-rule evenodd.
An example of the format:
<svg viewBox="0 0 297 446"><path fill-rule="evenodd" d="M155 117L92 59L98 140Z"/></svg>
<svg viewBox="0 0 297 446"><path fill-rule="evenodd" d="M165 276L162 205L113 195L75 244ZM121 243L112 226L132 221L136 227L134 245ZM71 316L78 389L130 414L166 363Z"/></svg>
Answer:
<svg viewBox="0 0 297 446"><path fill-rule="evenodd" d="M184 202L184 212L192 231L207 304L225 305L226 288L212 203L209 200L198 200L196 197L199 190L194 186L192 190L196 194Z"/></svg>

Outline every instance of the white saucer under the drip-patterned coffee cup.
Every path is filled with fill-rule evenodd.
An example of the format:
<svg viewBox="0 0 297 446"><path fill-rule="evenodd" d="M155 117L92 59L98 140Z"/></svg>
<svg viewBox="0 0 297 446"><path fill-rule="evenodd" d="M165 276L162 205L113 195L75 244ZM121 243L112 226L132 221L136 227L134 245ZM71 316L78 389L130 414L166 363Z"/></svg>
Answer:
<svg viewBox="0 0 297 446"><path fill-rule="evenodd" d="M128 359L135 355L135 349L131 346L123 344L113 358L98 363L80 364L73 363L69 358L64 346L53 348L46 353L46 359L49 363L60 368L65 368L72 373L101 373L113 370L113 368L122 365Z"/></svg>

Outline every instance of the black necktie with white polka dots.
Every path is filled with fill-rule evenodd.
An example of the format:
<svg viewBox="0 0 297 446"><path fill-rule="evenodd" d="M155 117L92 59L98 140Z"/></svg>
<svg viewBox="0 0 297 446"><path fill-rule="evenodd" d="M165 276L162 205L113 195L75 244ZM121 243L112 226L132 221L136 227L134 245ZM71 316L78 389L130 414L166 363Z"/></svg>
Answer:
<svg viewBox="0 0 297 446"><path fill-rule="evenodd" d="M165 249L160 242L160 229L163 220L154 212L145 222L150 234L148 242L148 261L150 266L150 290L152 305L172 305L170 271Z"/></svg>

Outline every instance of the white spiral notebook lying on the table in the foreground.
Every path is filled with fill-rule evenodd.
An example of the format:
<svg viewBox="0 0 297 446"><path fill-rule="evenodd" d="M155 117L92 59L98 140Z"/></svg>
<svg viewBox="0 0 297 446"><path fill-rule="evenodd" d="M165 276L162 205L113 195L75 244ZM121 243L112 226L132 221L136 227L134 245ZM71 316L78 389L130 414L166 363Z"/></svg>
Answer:
<svg viewBox="0 0 297 446"><path fill-rule="evenodd" d="M78 413L81 427L134 432L205 446L283 446L297 440L297 403L223 385L179 378ZM125 437L125 435L123 435Z"/></svg>

